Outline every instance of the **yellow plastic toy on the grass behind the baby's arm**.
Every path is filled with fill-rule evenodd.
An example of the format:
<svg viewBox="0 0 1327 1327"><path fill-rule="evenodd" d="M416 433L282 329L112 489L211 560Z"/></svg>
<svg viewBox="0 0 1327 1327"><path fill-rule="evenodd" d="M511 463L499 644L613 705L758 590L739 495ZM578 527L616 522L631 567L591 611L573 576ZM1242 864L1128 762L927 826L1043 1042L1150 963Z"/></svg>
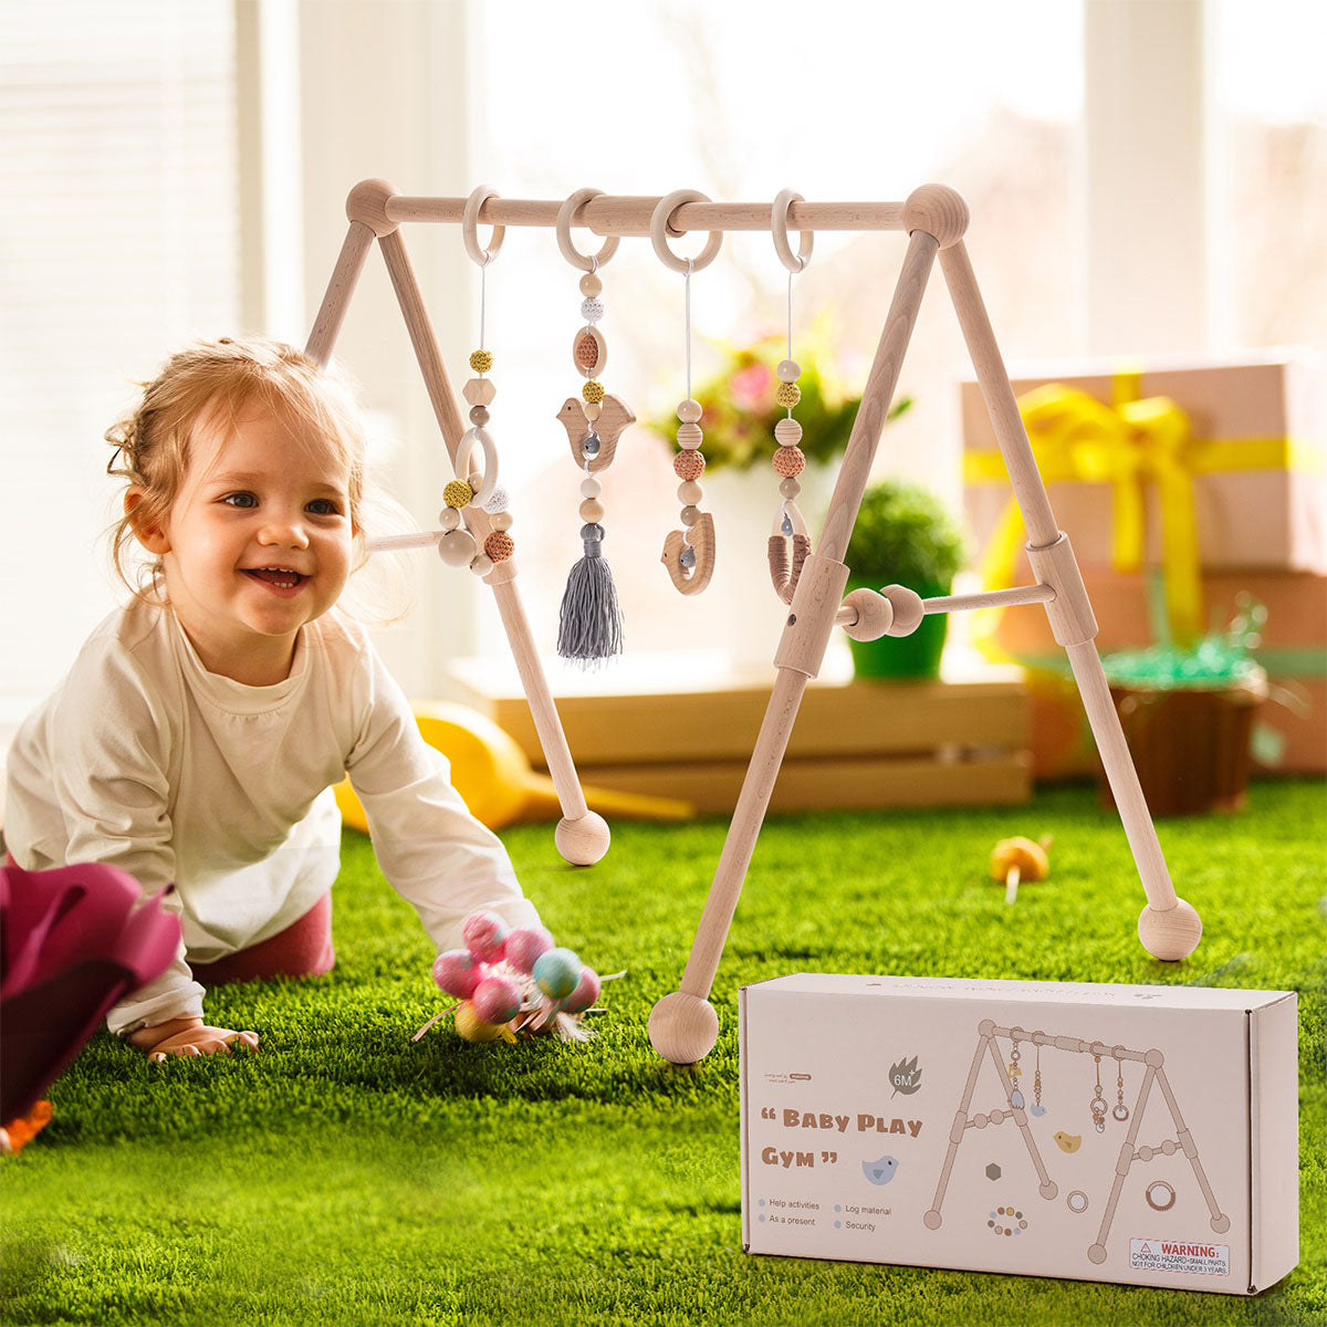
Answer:
<svg viewBox="0 0 1327 1327"><path fill-rule="evenodd" d="M419 734L451 762L451 783L471 815L490 829L518 820L556 820L561 813L553 780L536 774L510 733L464 705L431 702L415 710ZM695 807L673 798L648 798L610 788L583 788L592 811L645 820L690 820ZM369 832L364 807L342 780L336 790L345 824Z"/></svg>

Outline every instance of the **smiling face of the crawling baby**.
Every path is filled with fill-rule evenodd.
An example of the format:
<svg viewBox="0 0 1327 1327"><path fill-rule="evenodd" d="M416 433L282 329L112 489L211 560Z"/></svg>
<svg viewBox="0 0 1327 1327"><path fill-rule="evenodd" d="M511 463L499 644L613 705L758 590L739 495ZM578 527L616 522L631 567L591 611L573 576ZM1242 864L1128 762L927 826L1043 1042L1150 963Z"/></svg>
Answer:
<svg viewBox="0 0 1327 1327"><path fill-rule="evenodd" d="M268 415L226 438L199 429L166 533L167 592L204 666L269 685L345 589L349 475L324 439Z"/></svg>

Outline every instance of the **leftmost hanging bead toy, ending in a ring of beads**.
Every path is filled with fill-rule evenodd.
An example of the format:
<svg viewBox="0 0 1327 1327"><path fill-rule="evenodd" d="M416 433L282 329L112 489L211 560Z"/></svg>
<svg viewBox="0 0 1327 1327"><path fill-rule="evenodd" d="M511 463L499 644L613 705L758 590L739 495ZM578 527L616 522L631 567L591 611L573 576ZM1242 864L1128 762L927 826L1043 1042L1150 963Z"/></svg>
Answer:
<svg viewBox="0 0 1327 1327"><path fill-rule="evenodd" d="M476 377L471 378L462 390L462 395L470 406L470 427L462 434L456 447L456 478L443 488L443 508L438 514L438 524L442 528L438 556L449 567L468 567L476 576L487 576L494 569L495 563L506 561L516 549L511 535L507 533L511 528L511 516L507 512L507 495L498 487L498 449L488 431L491 418L488 407L492 405L498 389L484 377L494 366L492 352L484 348L486 276L488 264L502 248L506 228L495 226L488 248L480 248L479 210L487 199L496 196L492 190L480 184L466 199L462 216L460 234L466 252L479 264L479 349L470 356L470 368ZM482 471L472 468L476 446L483 453ZM463 512L467 507L483 508L488 515L491 529L484 537L483 547L479 547L475 536L466 527Z"/></svg>

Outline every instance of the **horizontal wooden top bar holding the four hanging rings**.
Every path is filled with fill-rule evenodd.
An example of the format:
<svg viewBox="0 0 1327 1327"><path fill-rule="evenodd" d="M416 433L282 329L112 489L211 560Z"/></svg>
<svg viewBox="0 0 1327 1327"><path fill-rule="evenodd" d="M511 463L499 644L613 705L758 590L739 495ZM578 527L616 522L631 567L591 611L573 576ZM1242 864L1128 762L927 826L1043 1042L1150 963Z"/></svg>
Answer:
<svg viewBox="0 0 1327 1327"><path fill-rule="evenodd" d="M585 203L576 224L596 235L649 235L650 216L658 198L613 196L601 194ZM459 222L463 198L418 198L393 194L386 199L391 222ZM490 198L479 210L480 226L557 224L561 200L541 202L522 198ZM682 203L671 218L671 230L687 231L767 231L774 202L768 203ZM902 203L799 203L788 208L790 231L901 231Z"/></svg>

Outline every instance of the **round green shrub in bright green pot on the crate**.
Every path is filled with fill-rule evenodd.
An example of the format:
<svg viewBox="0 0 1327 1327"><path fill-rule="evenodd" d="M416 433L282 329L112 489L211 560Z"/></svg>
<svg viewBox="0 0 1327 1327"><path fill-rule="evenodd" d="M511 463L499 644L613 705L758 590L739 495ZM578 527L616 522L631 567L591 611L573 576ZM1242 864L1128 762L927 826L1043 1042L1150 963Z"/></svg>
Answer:
<svg viewBox="0 0 1327 1327"><path fill-rule="evenodd" d="M848 589L906 585L922 598L947 594L963 565L963 536L945 504L920 484L885 480L861 499L848 540ZM946 613L928 614L912 636L853 641L859 678L933 678L940 675Z"/></svg>

